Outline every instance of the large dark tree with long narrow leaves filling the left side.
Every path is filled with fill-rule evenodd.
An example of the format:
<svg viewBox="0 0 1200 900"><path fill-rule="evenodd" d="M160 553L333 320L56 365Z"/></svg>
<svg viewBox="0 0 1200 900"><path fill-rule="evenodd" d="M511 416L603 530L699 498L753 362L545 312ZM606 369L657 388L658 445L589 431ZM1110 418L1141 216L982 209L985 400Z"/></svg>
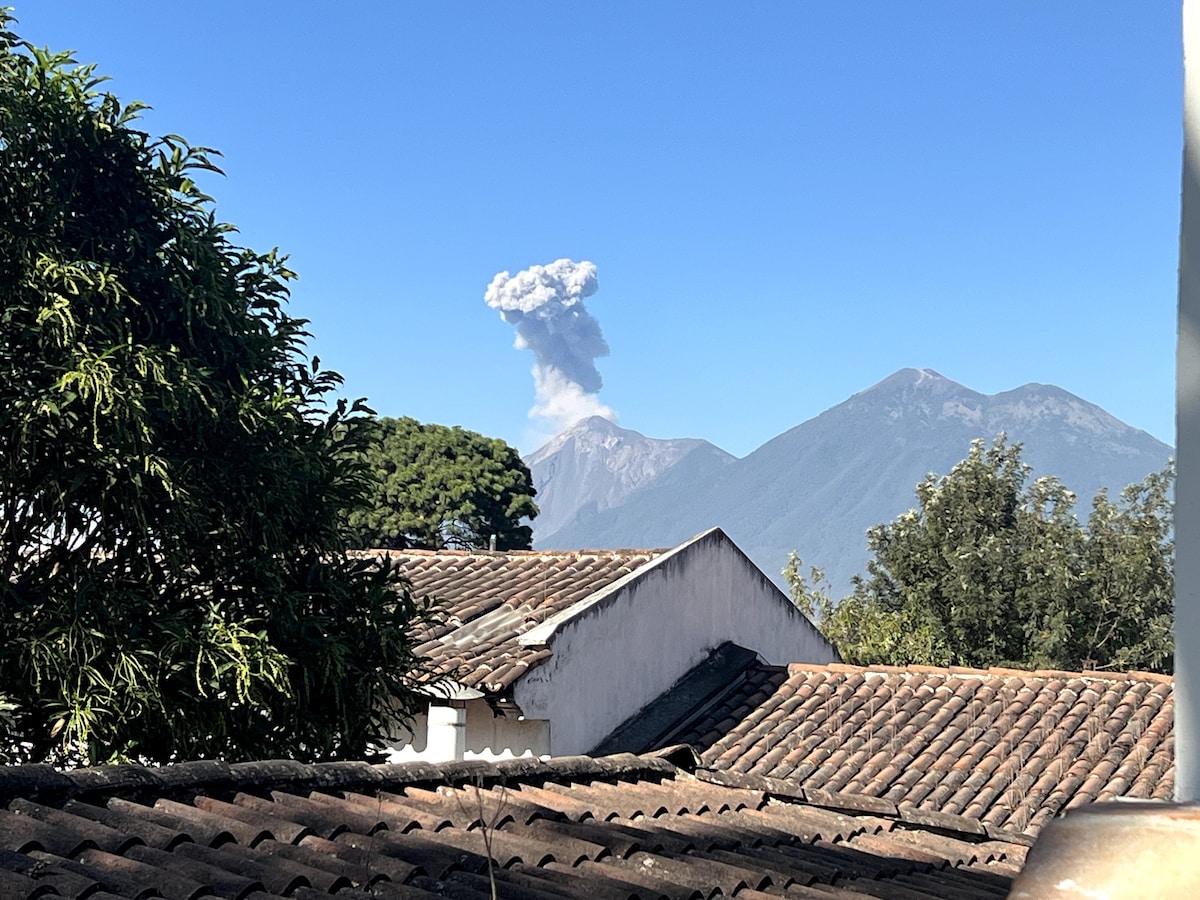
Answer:
<svg viewBox="0 0 1200 900"><path fill-rule="evenodd" d="M8 760L360 756L413 709L396 576L344 552L359 404L211 151L0 12L0 712Z"/></svg>

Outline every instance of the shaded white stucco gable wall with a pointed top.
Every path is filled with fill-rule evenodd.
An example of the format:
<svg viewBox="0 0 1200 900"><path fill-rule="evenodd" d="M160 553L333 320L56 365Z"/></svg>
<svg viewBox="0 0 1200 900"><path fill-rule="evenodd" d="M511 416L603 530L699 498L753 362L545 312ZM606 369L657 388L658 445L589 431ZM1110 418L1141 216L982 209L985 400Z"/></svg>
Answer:
<svg viewBox="0 0 1200 900"><path fill-rule="evenodd" d="M714 528L524 635L553 656L517 682L514 698L552 724L554 756L587 752L726 641L775 665L836 659Z"/></svg>

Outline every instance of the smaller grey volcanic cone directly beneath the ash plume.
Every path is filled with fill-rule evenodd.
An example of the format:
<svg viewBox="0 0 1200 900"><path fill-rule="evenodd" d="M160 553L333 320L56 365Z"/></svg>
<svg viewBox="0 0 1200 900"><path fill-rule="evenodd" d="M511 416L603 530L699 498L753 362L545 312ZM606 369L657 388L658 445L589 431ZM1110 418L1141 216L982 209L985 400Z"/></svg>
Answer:
<svg viewBox="0 0 1200 900"><path fill-rule="evenodd" d="M733 458L707 440L659 440L600 416L584 419L524 457L538 488L534 542L541 546L564 526L620 505L684 461L700 476Z"/></svg>

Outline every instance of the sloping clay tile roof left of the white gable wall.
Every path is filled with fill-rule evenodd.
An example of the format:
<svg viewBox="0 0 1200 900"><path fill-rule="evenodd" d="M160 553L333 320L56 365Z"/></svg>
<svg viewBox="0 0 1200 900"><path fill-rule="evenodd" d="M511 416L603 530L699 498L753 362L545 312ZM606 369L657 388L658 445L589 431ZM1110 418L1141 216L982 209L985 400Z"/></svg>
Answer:
<svg viewBox="0 0 1200 900"><path fill-rule="evenodd" d="M415 595L443 601L443 622L416 648L437 677L502 691L551 655L521 635L665 551L371 552L401 566Z"/></svg>

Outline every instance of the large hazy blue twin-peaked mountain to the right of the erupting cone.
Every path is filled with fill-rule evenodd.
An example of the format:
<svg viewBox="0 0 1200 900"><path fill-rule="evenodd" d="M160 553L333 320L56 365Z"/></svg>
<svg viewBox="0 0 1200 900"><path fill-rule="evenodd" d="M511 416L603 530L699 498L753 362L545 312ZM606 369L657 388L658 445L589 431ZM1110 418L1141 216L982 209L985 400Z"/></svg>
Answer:
<svg viewBox="0 0 1200 900"><path fill-rule="evenodd" d="M1172 452L1061 388L1026 384L985 395L931 370L906 368L742 460L700 466L695 476L676 467L642 479L607 509L542 528L535 546L659 547L719 524L768 575L796 550L822 566L840 594L865 568L866 529L914 506L916 484L948 472L973 438L990 442L1001 431L1025 444L1036 474L1057 475L1076 492L1080 516L1097 488L1120 491ZM553 463L547 448L534 454L542 466Z"/></svg>

